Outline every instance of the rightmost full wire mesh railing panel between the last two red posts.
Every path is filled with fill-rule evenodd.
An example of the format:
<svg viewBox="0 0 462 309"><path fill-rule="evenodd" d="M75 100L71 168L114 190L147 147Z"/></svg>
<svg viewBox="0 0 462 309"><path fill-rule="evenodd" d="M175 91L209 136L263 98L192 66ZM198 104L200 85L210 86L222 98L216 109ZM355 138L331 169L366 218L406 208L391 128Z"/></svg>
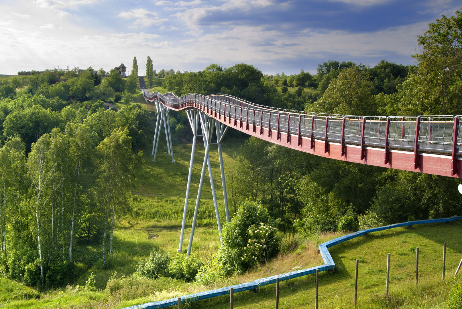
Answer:
<svg viewBox="0 0 462 309"><path fill-rule="evenodd" d="M451 152L453 134L453 117L424 118L420 121L419 149Z"/></svg>

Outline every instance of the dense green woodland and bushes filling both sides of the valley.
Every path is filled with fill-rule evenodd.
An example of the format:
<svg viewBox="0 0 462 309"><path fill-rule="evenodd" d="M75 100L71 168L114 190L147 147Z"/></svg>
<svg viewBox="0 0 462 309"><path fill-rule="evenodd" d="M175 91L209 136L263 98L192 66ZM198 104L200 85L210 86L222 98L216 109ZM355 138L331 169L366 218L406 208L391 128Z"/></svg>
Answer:
<svg viewBox="0 0 462 309"><path fill-rule="evenodd" d="M245 64L158 74L148 58L147 76L151 85L154 76L162 76L163 87L176 95L225 93L287 109L368 116L459 114L461 20L457 12L456 17L430 24L418 38L422 53L413 56L417 65L412 66L383 60L366 67L329 60L318 66L316 75L301 70L269 80ZM156 115L131 103L136 58L127 79L116 70L101 78L106 72L91 74L90 69L44 71L30 76L27 87L17 78L0 86L0 273L28 285L72 282L79 267L73 252L76 243L98 244L98 259L106 264L113 252L114 228L131 212L136 170L142 165L140 149L152 138ZM279 92L275 85L297 88ZM118 112L102 107L103 102L119 100L127 104ZM170 125L177 137L191 138L185 113L171 113ZM245 138L237 131L230 131L229 137ZM459 183L454 178L326 160L251 137L227 175L235 219L225 228L225 249L217 259L227 266L227 275L267 261L278 250L275 228L310 236L461 215ZM250 222L249 214L259 219ZM262 250L257 259L258 249L233 238L242 232L273 235L263 242L271 250ZM139 273L155 278L149 265L158 261L164 269L187 264L181 257L175 259L153 252L140 264ZM195 265L197 273L201 263ZM194 279L170 268L165 276ZM209 275L202 272L202 278Z"/></svg>

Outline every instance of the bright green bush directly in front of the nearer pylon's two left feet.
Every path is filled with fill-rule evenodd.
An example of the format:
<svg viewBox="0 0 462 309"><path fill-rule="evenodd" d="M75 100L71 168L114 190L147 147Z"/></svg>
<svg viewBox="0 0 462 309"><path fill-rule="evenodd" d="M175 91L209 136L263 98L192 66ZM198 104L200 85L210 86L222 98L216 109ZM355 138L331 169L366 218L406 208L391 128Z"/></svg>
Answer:
<svg viewBox="0 0 462 309"><path fill-rule="evenodd" d="M186 257L184 254L177 253L171 260L168 269L171 278L191 282L203 265L201 259L194 255Z"/></svg>

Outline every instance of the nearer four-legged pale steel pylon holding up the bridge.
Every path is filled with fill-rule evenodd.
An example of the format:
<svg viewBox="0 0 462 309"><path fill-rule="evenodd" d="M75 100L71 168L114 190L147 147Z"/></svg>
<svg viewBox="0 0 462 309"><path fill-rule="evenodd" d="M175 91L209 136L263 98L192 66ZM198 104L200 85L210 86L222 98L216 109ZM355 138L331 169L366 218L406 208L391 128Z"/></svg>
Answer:
<svg viewBox="0 0 462 309"><path fill-rule="evenodd" d="M191 234L189 237L189 244L188 244L188 253L187 256L191 254L191 246L194 238L194 230L197 220L197 214L199 211L199 203L201 201L201 193L202 187L204 185L205 180L205 171L206 168L208 169L208 174L210 178L210 186L212 188L212 196L213 196L213 205L215 207L215 215L217 218L217 225L218 225L218 232L220 236L220 243L222 241L221 237L221 224L220 224L220 216L218 211L218 203L217 203L217 196L215 194L215 186L213 184L213 175L212 175L212 166L210 165L210 146L217 145L218 146L218 154L219 154L219 162L220 162L220 172L221 172L221 181L223 186L223 196L225 202L225 214L226 214L226 221L230 222L230 215L228 209L228 199L226 197L226 184L225 184L225 170L223 167L223 154L221 151L221 142L223 141L223 137L225 136L226 132L228 131L228 126L220 123L218 120L213 119L207 113L204 113L200 110L195 108L190 108L186 110L186 115L188 116L189 124L191 125L191 129L193 131L193 145L191 149L191 160L189 162L189 173L188 173L188 185L186 187L186 196L184 201L184 210L183 210L183 220L182 220L182 227L181 227L181 234L180 234L180 244L178 246L177 252L182 252L182 244L183 244L183 235L184 229L186 226L186 213L188 209L188 199L189 199L189 191L191 189L191 177L193 172L193 163L194 163L194 153L195 153L195 146L197 137L202 137L204 140L204 147L205 147L205 154L204 154L204 162L202 164L202 172L201 172L201 180L199 183L199 190L197 192L197 199L194 209L194 217L193 217L193 224L191 226ZM199 135L199 124L201 124L201 131L202 135ZM216 143L213 143L213 129L215 129L215 134L217 137ZM207 166L207 167L206 167Z"/></svg>

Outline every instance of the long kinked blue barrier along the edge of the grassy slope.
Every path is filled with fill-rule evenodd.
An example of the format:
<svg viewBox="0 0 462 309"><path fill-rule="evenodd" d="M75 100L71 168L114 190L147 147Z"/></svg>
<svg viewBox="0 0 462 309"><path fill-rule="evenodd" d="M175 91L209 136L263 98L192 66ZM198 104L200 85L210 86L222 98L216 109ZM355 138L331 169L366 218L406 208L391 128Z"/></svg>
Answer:
<svg viewBox="0 0 462 309"><path fill-rule="evenodd" d="M201 299L207 299L207 298L212 298L212 297L217 297L217 296L222 296L230 293L230 288L233 288L234 293L236 292L242 292L242 291L249 291L249 290L255 290L259 286L262 285L268 285L268 284L273 284L276 283L276 279L279 278L279 281L284 281L288 279L293 279L293 278L298 278L302 276L306 276L312 273L316 273L316 269L319 269L319 272L323 272L329 269L334 269L335 268L335 263L334 260L332 259L332 256L330 256L329 251L327 248L330 248L332 246L335 246L336 244L341 244L343 242L346 242L350 239L357 238L359 236L363 236L368 233L372 232L378 232L378 231L383 231L383 230L388 230L392 229L395 227L400 227L400 226L412 226L414 224L424 224L424 223L438 223L438 222L449 222L449 221L455 221L455 220L460 220L462 217L450 217L450 218L443 218L443 219L430 219L430 220L419 220L419 221L408 221L404 223L397 223L397 224L392 224L389 226L381 226L381 227L376 227L372 229L367 229L367 230L362 230L359 232L354 232L339 238L335 238L332 240L329 240L328 242L325 242L323 244L319 245L319 252L321 253L322 260L324 260L324 265L322 266L316 266L316 267L311 267L311 268L306 268L306 269L300 269L296 270L290 273L282 273L280 275L275 275L271 277L266 277L266 278L261 278L261 279L256 279L252 282L248 283L243 283L239 285L231 285L231 286L226 286L220 289L216 290L210 290L210 291L205 291L205 292L200 292L200 293L195 293L195 294L190 294L190 295L185 295L181 297L181 302L186 303L186 301L191 302L191 301L196 301L196 300L201 300ZM152 302L152 303L144 303L141 305L136 305L136 306L131 306L127 307L124 309L157 309L157 308L166 308L170 306L175 306L178 305L178 299L177 298L172 298L168 300L162 300L158 302Z"/></svg>

